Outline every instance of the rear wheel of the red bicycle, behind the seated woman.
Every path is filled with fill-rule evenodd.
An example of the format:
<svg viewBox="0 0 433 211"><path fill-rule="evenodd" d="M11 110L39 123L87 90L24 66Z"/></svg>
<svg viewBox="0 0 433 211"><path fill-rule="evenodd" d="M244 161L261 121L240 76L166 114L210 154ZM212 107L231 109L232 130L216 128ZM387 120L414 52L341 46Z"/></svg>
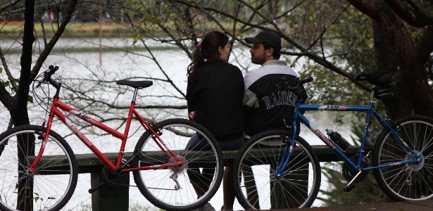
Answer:
<svg viewBox="0 0 433 211"><path fill-rule="evenodd" d="M149 202L163 210L193 210L203 206L215 195L222 181L222 152L215 137L201 124L184 119L163 120L156 123L155 130L165 145L178 157L184 158L187 164L183 167L134 171L134 181L140 192ZM195 134L203 137L201 139L203 143L210 147L203 151L203 153L206 151L205 154L201 155L201 151L185 150L188 148L189 139ZM161 148L156 145L152 136L151 132L145 132L135 146L136 152L142 152L141 161L137 159L134 164L137 167L171 162L161 153ZM153 152L159 152L159 154ZM198 158L207 160L200 161ZM192 167L213 171L213 178L208 181L211 182L208 191L201 197L194 191L192 178L188 173L192 171ZM175 189L176 183L174 179L170 179L172 175L177 176L181 189ZM197 178L200 179L198 181L203 179L201 176Z"/></svg>

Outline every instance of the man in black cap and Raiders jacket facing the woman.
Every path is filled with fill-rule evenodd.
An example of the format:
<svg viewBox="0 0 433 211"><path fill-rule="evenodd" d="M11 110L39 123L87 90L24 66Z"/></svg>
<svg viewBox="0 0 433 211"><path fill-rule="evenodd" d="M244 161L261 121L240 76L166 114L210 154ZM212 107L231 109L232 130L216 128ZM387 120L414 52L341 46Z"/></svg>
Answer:
<svg viewBox="0 0 433 211"><path fill-rule="evenodd" d="M275 32L262 31L256 37L246 37L251 47L251 62L262 65L251 70L244 77L244 132L253 136L268 129L286 129L293 121L296 99L305 102L308 97L301 88L301 96L296 96L287 89L278 89L275 84L292 82L298 75L281 56L281 38ZM299 127L298 127L299 128Z"/></svg>

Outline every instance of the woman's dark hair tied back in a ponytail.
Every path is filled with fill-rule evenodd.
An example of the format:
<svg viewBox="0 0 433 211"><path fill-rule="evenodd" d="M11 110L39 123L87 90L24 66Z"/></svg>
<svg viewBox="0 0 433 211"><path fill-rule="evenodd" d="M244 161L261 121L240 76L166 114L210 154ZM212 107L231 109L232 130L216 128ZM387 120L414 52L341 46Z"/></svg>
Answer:
<svg viewBox="0 0 433 211"><path fill-rule="evenodd" d="M212 31L205 34L199 46L196 46L192 63L188 65L188 79L203 66L205 59L218 58L220 56L218 48L224 48L228 42L229 37L221 32Z"/></svg>

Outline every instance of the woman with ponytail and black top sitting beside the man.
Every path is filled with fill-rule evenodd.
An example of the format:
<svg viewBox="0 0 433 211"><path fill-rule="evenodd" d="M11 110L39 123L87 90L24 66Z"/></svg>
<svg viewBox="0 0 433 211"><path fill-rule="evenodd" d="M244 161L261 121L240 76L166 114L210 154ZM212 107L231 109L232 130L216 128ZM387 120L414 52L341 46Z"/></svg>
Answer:
<svg viewBox="0 0 433 211"><path fill-rule="evenodd" d="M189 118L206 127L215 136L222 151L237 150L244 143L244 78L239 68L227 63L230 53L228 41L229 38L221 32L208 32L196 47L187 74ZM199 144L194 143L195 140L190 141L191 146ZM197 184L194 188L200 197L208 190L206 181L213 178L213 172L191 170L188 173ZM231 167L225 167L223 210L233 209L234 188L230 174ZM207 180L201 177L207 177Z"/></svg>

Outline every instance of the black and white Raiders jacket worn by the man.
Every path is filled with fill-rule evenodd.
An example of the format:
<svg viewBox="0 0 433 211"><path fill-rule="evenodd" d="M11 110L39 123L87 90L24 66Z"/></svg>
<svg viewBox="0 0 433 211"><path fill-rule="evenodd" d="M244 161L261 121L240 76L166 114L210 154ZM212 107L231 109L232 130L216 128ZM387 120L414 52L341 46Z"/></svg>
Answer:
<svg viewBox="0 0 433 211"><path fill-rule="evenodd" d="M275 86L282 77L291 82L298 75L281 60L268 60L261 68L246 73L243 99L246 135L253 136L268 129L285 129L286 124L291 125L299 96ZM301 98L303 101L307 98L303 87Z"/></svg>

